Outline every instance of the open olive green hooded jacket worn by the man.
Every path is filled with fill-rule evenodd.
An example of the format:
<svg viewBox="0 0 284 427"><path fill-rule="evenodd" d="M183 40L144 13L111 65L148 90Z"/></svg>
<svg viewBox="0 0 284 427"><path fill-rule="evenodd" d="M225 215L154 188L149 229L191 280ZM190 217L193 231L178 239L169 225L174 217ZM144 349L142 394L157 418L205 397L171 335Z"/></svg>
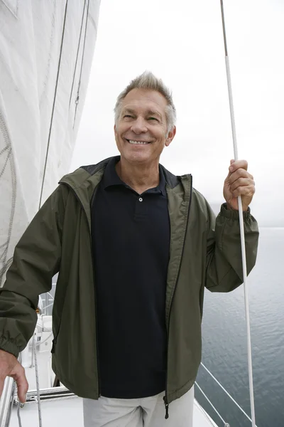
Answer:
<svg viewBox="0 0 284 427"><path fill-rule="evenodd" d="M0 290L0 348L18 356L33 334L38 295L59 272L53 306L53 370L78 396L99 397L96 287L91 244L95 189L109 159L64 176L16 246ZM243 281L239 213L215 218L192 176L163 168L170 216L170 261L165 321L168 403L195 382L201 361L204 287L229 292ZM94 201L95 203L95 201ZM258 226L244 213L248 273L256 262Z"/></svg>

